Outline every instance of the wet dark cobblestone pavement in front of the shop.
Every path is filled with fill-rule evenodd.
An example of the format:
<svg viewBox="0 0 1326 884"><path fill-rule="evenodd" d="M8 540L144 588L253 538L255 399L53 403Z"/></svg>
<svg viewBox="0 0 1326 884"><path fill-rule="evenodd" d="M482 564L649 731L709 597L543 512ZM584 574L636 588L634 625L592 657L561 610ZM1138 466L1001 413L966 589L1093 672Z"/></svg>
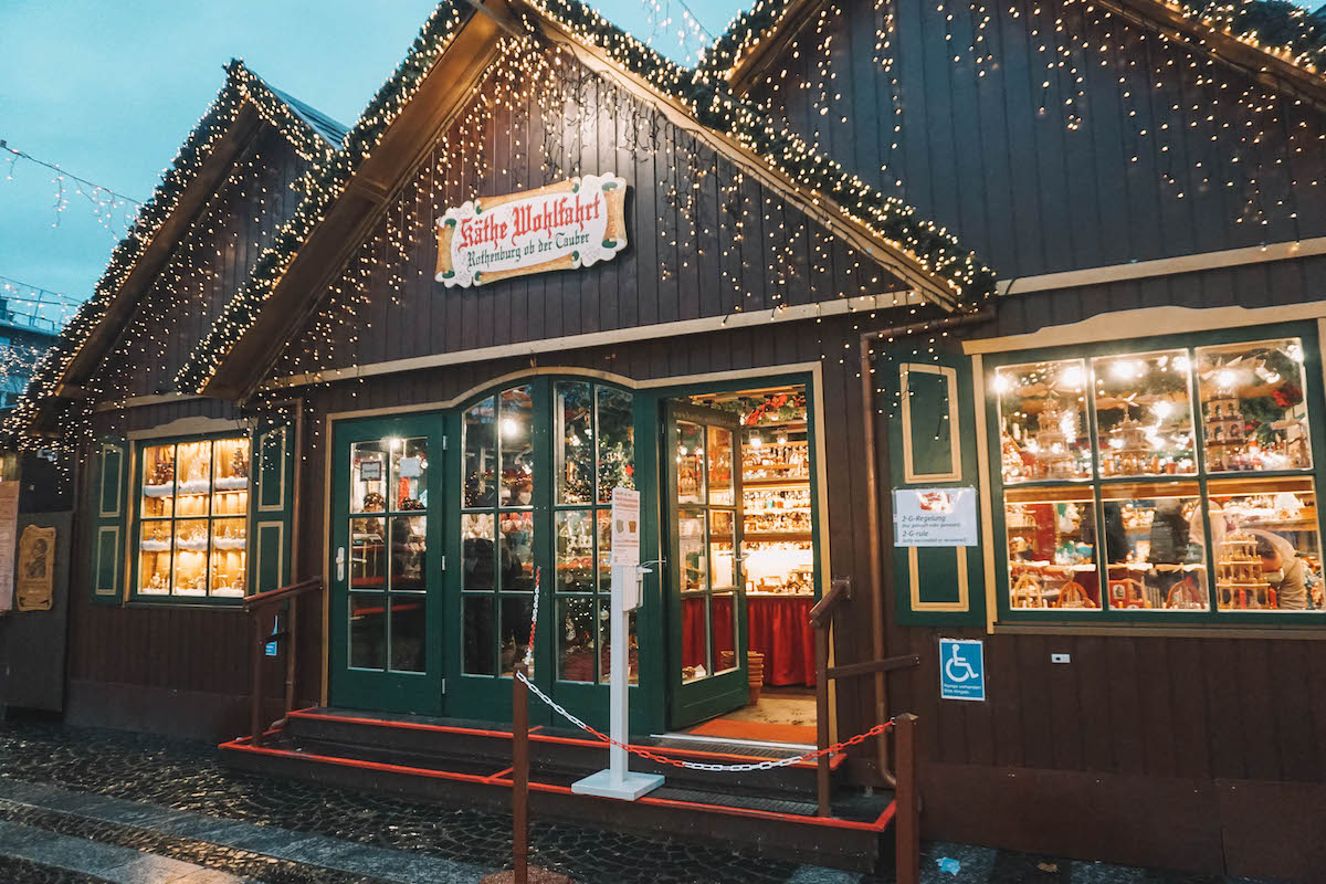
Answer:
<svg viewBox="0 0 1326 884"><path fill-rule="evenodd" d="M892 881L537 818L530 847L578 884ZM473 884L509 855L501 814L237 774L204 744L0 722L5 884ZM922 863L935 884L1227 880L943 843L926 844Z"/></svg>

